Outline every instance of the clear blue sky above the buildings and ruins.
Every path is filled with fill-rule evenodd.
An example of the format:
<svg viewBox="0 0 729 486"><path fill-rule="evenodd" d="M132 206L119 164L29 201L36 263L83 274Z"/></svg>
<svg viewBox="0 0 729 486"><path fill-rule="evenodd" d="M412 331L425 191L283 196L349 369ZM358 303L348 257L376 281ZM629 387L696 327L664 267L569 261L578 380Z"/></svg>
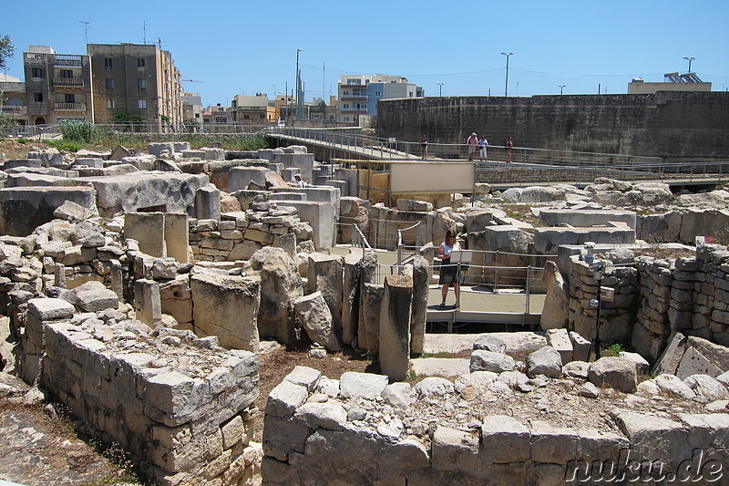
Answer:
<svg viewBox="0 0 729 486"><path fill-rule="evenodd" d="M205 105L237 94L273 98L293 89L296 49L306 100L336 94L344 74L405 76L426 96L625 93L631 78L662 81L692 71L713 89L729 88L729 2L466 2L369 0L268 2L79 0L4 2L0 36L16 50L7 74L23 78L23 52L51 46L86 54L88 42L147 42L169 50L186 91ZM323 65L325 64L325 71Z"/></svg>

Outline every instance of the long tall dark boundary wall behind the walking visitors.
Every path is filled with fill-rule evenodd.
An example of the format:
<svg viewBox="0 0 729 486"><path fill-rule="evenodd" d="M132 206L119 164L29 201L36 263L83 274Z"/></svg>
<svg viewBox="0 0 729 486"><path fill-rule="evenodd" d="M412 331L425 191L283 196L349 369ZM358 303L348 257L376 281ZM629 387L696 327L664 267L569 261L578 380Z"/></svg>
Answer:
<svg viewBox="0 0 729 486"><path fill-rule="evenodd" d="M492 145L722 160L729 155L729 93L427 97L381 100L380 137L459 143L485 134Z"/></svg>

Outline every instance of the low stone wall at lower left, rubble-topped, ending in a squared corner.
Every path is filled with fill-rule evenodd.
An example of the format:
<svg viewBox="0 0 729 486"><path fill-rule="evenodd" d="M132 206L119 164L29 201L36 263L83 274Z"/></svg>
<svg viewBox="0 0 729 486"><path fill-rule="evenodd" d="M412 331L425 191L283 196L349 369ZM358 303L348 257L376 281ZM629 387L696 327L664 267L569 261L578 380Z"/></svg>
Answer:
<svg viewBox="0 0 729 486"><path fill-rule="evenodd" d="M190 332L154 332L116 310L73 315L61 299L32 299L45 353L39 385L158 484L252 484L258 357ZM70 313L70 315L69 315Z"/></svg>

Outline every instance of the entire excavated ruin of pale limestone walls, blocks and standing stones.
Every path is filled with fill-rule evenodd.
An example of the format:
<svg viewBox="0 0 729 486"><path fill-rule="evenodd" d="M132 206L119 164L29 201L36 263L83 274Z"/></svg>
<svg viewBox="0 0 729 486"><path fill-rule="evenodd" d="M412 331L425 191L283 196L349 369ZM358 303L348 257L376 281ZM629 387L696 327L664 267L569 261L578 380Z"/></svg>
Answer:
<svg viewBox="0 0 729 486"><path fill-rule="evenodd" d="M10 367L19 376L66 403L90 431L122 444L160 484L559 483L570 472L588 477L591 460L625 450L666 460L669 470L702 450L727 467L725 250L631 260L606 246L605 257L623 266L603 276L618 298L605 305L601 337L630 342L655 363L657 377L640 385L638 371L649 365L639 356L587 362L596 316L586 295L597 284L580 260L586 241L640 246L636 237L651 234L692 243L699 233L718 233L722 226L708 224L727 217L722 191L703 200L680 196L691 206L676 209L662 187L596 181L586 191L480 188L482 202L466 212L404 200L390 209L344 195L352 179L346 170L336 183L321 176L323 187L286 184L293 173L314 181L328 171L301 148L231 154L174 142L150 144L149 155L122 149L112 151L119 160L83 154L5 162L0 310L20 348L2 356L15 357ZM563 201L561 214L545 208L540 216L554 224L552 233L484 205L549 198ZM666 211L601 206L618 203ZM586 215L590 227L578 222ZM425 243L423 257L375 284L376 253L328 254L337 239L351 238L353 222L389 249L397 222L421 222L406 240ZM539 247L544 259L529 264L550 269L542 326L558 329L525 361L508 356L506 346L475 342L465 371L414 388L406 379L416 368L410 357L426 351L434 248L427 243L454 226L469 248ZM494 264L488 258L479 264ZM504 272L508 284L528 278ZM328 351L352 346L377 357L384 375L330 380L297 368L269 397L263 444L256 444L262 337ZM508 400L562 381L580 399L600 397L598 387L621 390L624 408L596 430L473 407L477 397ZM689 400L688 411L656 415L652 407L665 394ZM689 447L671 449L676 444ZM343 463L343 448L356 457Z"/></svg>

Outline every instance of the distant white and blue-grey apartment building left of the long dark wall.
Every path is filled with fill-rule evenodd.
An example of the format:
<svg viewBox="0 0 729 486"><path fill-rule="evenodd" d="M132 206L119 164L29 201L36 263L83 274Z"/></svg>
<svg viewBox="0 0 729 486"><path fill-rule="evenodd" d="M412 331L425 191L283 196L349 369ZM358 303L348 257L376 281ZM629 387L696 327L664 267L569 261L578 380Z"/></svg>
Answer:
<svg viewBox="0 0 729 486"><path fill-rule="evenodd" d="M377 115L380 99L426 96L422 87L402 76L343 75L337 84L337 121L346 123L362 124L365 117Z"/></svg>

